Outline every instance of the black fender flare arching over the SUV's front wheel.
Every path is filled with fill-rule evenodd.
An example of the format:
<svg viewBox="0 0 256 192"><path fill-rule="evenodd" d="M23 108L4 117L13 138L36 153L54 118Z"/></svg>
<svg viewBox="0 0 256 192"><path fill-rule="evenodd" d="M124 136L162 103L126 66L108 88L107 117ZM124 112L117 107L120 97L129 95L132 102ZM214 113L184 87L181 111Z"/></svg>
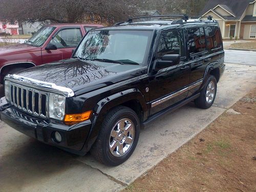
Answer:
<svg viewBox="0 0 256 192"><path fill-rule="evenodd" d="M90 150L93 143L96 141L98 137L98 134L101 129L100 125L104 120L104 116L108 113L109 110L111 110L115 106L121 105L124 102L134 99L140 103L144 114L143 116L147 116L148 109L144 96L136 88L125 90L114 95L108 96L104 99L101 99L94 108L94 117L92 119L91 130L81 151L88 152Z"/></svg>

